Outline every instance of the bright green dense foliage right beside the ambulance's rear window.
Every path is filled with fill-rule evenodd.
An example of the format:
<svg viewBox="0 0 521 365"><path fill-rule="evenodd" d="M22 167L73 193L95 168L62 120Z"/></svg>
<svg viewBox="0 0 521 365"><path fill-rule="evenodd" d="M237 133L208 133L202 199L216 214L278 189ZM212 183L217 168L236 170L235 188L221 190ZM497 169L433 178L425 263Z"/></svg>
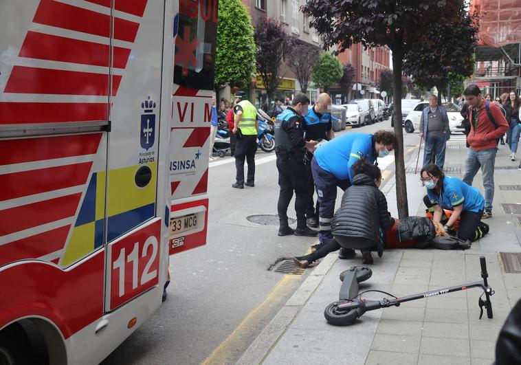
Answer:
<svg viewBox="0 0 521 365"><path fill-rule="evenodd" d="M254 29L241 0L219 0L215 87L247 85L255 76Z"/></svg>

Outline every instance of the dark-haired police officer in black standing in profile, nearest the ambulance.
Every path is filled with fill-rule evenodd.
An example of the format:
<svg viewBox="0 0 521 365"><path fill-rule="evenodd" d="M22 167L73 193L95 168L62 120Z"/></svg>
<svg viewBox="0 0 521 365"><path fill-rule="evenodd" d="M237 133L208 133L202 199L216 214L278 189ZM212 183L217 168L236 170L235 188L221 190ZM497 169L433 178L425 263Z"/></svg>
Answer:
<svg viewBox="0 0 521 365"><path fill-rule="evenodd" d="M316 141L304 139L304 118L307 115L309 98L298 93L291 106L277 115L275 121L275 153L277 156L278 185L278 219L279 236L296 234L297 236L316 236L317 232L306 225L306 207L308 203L307 167L304 162L305 150L313 152ZM287 207L295 192L295 211L297 229L293 231L287 221Z"/></svg>

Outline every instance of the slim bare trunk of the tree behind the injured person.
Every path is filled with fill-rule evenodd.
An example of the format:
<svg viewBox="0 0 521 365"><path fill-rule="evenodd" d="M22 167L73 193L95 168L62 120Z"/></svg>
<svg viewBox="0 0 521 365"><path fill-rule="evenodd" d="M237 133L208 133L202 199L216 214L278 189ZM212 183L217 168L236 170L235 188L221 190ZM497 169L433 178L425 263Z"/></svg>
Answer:
<svg viewBox="0 0 521 365"><path fill-rule="evenodd" d="M392 119L395 121L395 135L398 146L395 146L395 178L396 178L396 202L398 206L398 217L402 219L408 217L409 206L407 201L407 182L406 168L403 160L403 129L401 126L401 52L392 52L392 79L393 79L393 98L395 107L392 111Z"/></svg>

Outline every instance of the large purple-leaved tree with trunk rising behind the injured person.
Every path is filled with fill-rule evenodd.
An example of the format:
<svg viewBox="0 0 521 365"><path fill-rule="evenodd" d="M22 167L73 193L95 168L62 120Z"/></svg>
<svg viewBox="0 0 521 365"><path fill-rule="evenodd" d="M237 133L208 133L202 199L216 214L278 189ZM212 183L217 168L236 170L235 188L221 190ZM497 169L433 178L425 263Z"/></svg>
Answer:
<svg viewBox="0 0 521 365"><path fill-rule="evenodd" d="M408 216L407 186L401 128L401 74L403 58L421 43L425 29L454 19L463 0L307 0L302 11L322 37L324 49L338 53L353 43L365 47L388 46L392 51L395 107L396 193L399 217Z"/></svg>

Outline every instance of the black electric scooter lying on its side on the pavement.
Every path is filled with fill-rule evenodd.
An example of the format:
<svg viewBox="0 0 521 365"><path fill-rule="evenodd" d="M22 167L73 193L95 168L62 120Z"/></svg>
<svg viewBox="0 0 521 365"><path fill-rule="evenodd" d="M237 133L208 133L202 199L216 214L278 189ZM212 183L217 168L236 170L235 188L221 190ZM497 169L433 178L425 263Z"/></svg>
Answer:
<svg viewBox="0 0 521 365"><path fill-rule="evenodd" d="M425 293L412 294L402 298L398 298L381 290L367 290L358 294L358 284L370 278L372 273L368 267L353 266L351 269L348 269L340 274L340 280L342 280L342 287L340 288L340 300L328 305L324 311L324 316L326 317L327 322L330 324L334 324L335 326L345 326L355 322L355 320L360 318L364 313L366 313L366 311L374 311L376 309L387 307L399 307L401 303L409 302L410 300L429 298L431 296L439 296L441 294L448 294L454 291L461 291L478 287L483 289L483 294L485 295L485 300L482 299L483 294L478 300L478 305L480 307L479 319L481 319L483 316L483 309L487 310L487 317L492 318L492 302L490 301L490 297L494 295L494 291L491 287L489 287L487 282L489 274L487 273L487 263L485 261L485 256L480 257L480 264L481 278L483 278L483 281L475 281L474 283L467 283L454 287L426 291ZM362 294L369 291L377 291L393 298L384 298L382 300L366 300L361 297Z"/></svg>

